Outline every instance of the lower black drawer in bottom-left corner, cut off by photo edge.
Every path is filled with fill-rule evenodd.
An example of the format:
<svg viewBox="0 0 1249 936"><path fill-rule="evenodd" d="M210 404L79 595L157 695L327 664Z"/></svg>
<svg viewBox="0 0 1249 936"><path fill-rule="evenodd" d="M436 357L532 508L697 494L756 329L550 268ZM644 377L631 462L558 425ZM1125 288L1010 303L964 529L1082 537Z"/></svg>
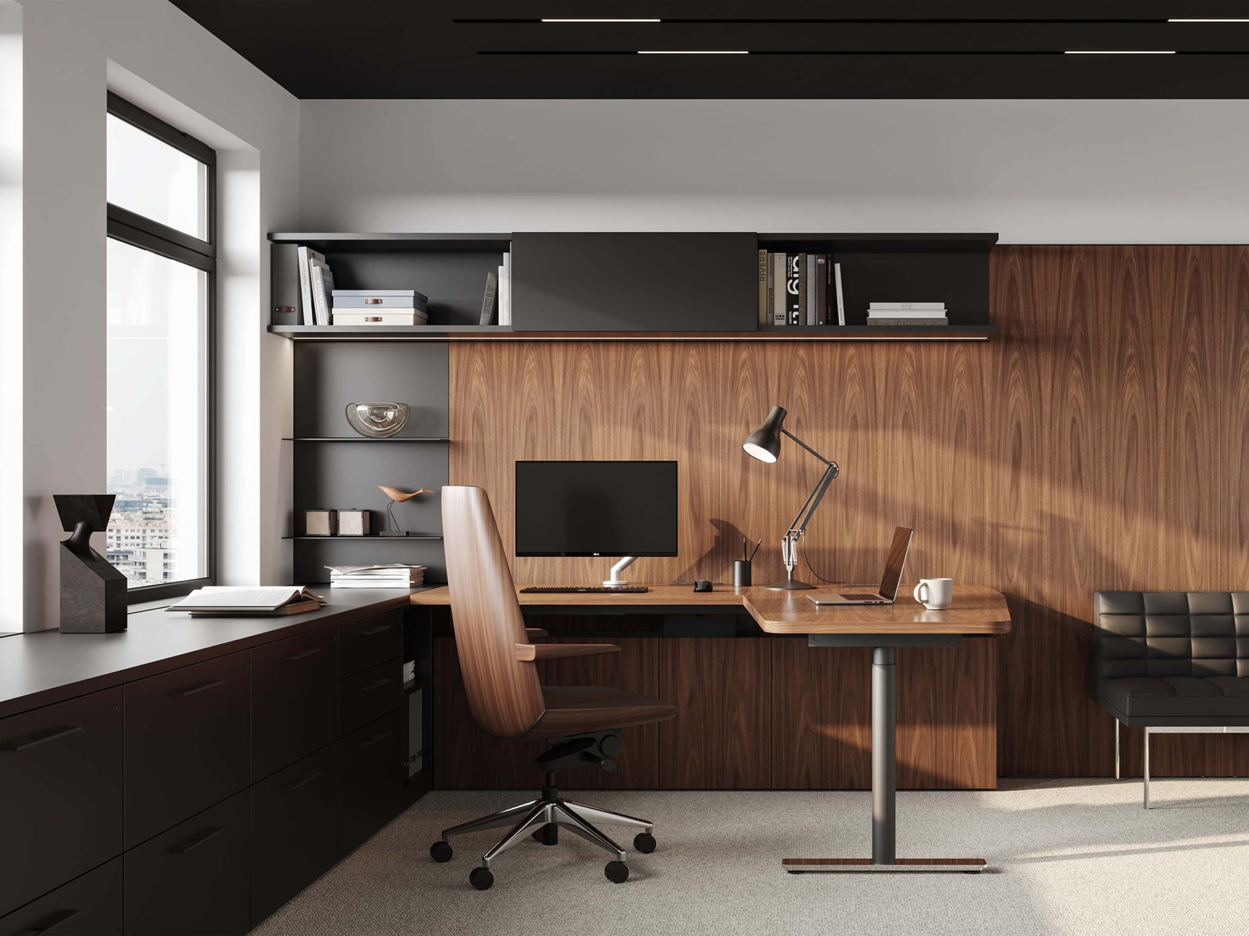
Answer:
<svg viewBox="0 0 1249 936"><path fill-rule="evenodd" d="M121 934L121 857L0 917L0 936Z"/></svg>

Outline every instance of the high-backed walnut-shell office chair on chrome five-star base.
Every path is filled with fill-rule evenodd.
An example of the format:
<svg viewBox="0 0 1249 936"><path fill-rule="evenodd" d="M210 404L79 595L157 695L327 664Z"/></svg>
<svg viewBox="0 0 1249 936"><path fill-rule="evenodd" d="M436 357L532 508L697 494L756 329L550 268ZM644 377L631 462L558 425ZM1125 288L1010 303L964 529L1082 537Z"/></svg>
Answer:
<svg viewBox="0 0 1249 936"><path fill-rule="evenodd" d="M481 488L442 488L442 530L456 649L473 719L495 738L543 738L547 750L536 760L546 775L541 799L445 830L430 846L430 855L435 861L450 861L452 835L512 826L468 875L473 887L486 890L495 882L491 865L503 851L530 836L556 845L563 826L611 852L613 859L603 874L623 882L628 877L624 850L593 822L641 829L633 846L643 852L654 851L654 826L644 819L565 800L555 775L586 765L613 770L622 728L671 719L677 708L626 689L543 686L537 660L620 653L620 648L530 643L531 635L543 636L543 631L525 628L495 514Z"/></svg>

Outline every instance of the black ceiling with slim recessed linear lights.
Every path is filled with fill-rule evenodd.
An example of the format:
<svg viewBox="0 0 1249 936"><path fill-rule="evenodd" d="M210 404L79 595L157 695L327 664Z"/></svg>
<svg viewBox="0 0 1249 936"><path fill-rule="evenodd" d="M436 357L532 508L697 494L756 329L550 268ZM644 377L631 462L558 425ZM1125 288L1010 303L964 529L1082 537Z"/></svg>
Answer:
<svg viewBox="0 0 1249 936"><path fill-rule="evenodd" d="M310 99L1249 97L1249 0L172 2Z"/></svg>

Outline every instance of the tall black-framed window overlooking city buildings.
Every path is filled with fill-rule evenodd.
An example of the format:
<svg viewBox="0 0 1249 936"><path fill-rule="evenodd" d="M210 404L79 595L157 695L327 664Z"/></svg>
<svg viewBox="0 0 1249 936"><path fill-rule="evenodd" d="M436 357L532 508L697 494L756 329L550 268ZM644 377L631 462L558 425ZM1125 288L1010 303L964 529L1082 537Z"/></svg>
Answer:
<svg viewBox="0 0 1249 936"><path fill-rule="evenodd" d="M216 157L109 95L107 557L131 600L212 582Z"/></svg>

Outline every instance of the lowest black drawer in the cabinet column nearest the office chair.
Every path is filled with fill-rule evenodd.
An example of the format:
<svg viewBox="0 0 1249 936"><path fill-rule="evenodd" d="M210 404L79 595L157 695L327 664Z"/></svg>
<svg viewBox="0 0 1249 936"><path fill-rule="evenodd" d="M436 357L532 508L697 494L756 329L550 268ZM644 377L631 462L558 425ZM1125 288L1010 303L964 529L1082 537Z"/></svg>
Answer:
<svg viewBox="0 0 1249 936"><path fill-rule="evenodd" d="M338 741L338 857L361 845L401 809L398 711Z"/></svg>

